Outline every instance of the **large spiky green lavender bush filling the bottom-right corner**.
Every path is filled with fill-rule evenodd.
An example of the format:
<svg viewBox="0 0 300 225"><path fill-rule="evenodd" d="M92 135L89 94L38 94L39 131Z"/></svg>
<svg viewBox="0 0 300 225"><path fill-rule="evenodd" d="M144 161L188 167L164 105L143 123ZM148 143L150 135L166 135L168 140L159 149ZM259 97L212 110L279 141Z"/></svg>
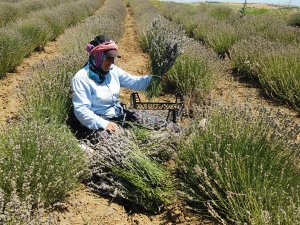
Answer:
<svg viewBox="0 0 300 225"><path fill-rule="evenodd" d="M187 133L183 191L193 209L221 224L297 224L299 145L286 142L294 137L284 123L273 128L265 114L242 109L213 110Z"/></svg>

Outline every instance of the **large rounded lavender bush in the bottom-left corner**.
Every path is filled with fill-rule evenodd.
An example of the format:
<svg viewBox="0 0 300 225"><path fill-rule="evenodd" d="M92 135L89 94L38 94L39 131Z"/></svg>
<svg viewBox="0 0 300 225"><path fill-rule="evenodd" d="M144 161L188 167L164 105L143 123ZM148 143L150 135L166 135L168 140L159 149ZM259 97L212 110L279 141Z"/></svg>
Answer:
<svg viewBox="0 0 300 225"><path fill-rule="evenodd" d="M1 133L0 214L18 214L17 206L24 204L30 212L62 200L77 186L84 158L66 126L22 120Z"/></svg>

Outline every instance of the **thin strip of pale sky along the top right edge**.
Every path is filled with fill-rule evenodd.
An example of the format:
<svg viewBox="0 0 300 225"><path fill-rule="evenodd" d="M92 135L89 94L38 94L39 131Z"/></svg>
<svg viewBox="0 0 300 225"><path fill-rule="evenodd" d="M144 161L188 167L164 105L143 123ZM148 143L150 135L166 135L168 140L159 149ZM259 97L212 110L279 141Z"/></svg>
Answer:
<svg viewBox="0 0 300 225"><path fill-rule="evenodd" d="M217 2L239 2L239 3L245 2L245 0L163 0L163 1L173 1L173 2L217 1ZM300 6L300 0L247 0L247 3L267 3L267 4Z"/></svg>

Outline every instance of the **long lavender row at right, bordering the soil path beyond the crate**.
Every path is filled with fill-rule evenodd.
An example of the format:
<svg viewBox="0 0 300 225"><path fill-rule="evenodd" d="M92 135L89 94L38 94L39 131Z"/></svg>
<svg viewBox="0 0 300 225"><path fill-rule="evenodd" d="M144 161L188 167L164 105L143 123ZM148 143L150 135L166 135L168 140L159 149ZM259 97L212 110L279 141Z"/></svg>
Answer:
<svg viewBox="0 0 300 225"><path fill-rule="evenodd" d="M220 56L228 56L237 75L254 77L269 96L299 110L299 28L272 15L231 12L220 20L212 8L166 3L160 10Z"/></svg>

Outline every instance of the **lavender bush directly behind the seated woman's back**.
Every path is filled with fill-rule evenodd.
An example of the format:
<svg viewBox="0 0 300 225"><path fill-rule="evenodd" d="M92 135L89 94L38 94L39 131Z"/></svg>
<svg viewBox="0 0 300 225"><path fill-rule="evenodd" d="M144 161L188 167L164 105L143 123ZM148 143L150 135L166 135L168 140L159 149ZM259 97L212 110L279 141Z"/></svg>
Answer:
<svg viewBox="0 0 300 225"><path fill-rule="evenodd" d="M48 61L26 87L26 117L64 123L71 111L70 80L84 59L69 55ZM54 67L54 65L56 65Z"/></svg>

